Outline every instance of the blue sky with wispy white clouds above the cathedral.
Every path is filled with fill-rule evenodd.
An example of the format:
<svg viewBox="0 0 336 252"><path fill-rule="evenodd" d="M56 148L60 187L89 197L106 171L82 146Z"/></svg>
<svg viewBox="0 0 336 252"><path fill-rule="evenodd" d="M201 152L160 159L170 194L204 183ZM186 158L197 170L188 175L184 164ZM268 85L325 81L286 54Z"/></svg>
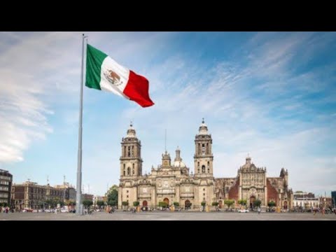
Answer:
<svg viewBox="0 0 336 252"><path fill-rule="evenodd" d="M81 34L0 32L0 169L76 185ZM289 186L336 190L335 32L85 32L89 43L150 81L143 109L84 89L83 185L118 183L120 141L133 120L144 172L176 146L193 169L205 118L214 175L236 176L247 153Z"/></svg>

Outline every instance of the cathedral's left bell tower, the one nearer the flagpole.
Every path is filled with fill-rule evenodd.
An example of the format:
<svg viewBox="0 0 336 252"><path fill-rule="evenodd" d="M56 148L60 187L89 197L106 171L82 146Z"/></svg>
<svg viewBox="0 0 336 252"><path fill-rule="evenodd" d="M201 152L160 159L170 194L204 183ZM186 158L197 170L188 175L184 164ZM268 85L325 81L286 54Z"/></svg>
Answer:
<svg viewBox="0 0 336 252"><path fill-rule="evenodd" d="M120 178L142 175L141 141L137 139L132 125L127 130L126 137L121 141Z"/></svg>

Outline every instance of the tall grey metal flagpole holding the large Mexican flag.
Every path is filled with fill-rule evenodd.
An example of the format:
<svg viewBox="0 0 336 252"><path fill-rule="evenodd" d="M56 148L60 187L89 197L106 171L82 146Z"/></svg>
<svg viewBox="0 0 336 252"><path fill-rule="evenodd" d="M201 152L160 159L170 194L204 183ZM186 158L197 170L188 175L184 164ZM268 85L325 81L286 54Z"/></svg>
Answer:
<svg viewBox="0 0 336 252"><path fill-rule="evenodd" d="M83 79L84 79L84 39L82 38L82 69L80 71L80 103L79 103L79 126L78 126L78 161L77 161L77 192L76 192L76 215L83 214L81 208L82 197L82 118L83 118Z"/></svg>

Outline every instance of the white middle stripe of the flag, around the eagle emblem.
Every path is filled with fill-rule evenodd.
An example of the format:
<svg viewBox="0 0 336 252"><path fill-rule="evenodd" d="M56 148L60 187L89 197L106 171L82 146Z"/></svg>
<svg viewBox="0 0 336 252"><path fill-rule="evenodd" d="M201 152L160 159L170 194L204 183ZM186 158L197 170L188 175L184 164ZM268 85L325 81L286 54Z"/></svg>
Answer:
<svg viewBox="0 0 336 252"><path fill-rule="evenodd" d="M118 74L120 80L116 82L116 84L111 83L111 81L106 77L109 75L109 71L113 71ZM118 94L121 97L125 97L129 99L123 91L127 85L128 78L130 77L130 70L118 64L111 57L106 57L102 63L102 68L100 71L100 88L107 92L113 92L114 94Z"/></svg>

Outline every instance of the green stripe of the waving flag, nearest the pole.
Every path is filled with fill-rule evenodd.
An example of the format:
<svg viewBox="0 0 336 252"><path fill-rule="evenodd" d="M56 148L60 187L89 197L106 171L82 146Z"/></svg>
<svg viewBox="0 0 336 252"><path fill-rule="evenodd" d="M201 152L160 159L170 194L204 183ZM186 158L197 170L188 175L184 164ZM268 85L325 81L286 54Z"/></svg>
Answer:
<svg viewBox="0 0 336 252"><path fill-rule="evenodd" d="M107 55L93 46L87 44L86 49L86 82L87 87L101 90L100 88L100 72L102 64Z"/></svg>

